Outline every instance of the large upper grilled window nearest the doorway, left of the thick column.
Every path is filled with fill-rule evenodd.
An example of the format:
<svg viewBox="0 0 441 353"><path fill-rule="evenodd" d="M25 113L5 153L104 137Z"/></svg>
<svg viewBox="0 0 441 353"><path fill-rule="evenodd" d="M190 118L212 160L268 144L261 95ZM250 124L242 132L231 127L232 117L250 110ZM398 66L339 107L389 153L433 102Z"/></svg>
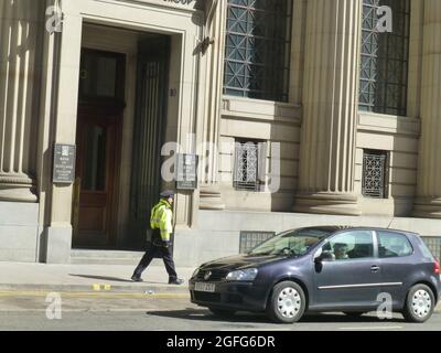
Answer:
<svg viewBox="0 0 441 353"><path fill-rule="evenodd" d="M292 1L228 0L224 94L287 101Z"/></svg>

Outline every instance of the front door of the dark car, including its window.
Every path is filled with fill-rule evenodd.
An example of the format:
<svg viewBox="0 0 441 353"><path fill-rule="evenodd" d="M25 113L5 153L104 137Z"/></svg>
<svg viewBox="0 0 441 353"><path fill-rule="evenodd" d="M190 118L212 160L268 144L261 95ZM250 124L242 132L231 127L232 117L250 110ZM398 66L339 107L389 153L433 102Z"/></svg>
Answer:
<svg viewBox="0 0 441 353"><path fill-rule="evenodd" d="M380 274L372 231L345 231L319 249L332 258L315 264L315 306L321 308L375 307Z"/></svg>

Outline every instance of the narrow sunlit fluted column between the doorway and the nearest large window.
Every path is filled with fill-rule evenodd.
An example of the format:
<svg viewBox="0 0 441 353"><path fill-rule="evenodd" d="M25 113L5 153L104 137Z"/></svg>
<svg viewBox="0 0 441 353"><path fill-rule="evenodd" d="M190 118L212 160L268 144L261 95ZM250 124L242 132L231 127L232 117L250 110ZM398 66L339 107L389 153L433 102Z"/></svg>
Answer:
<svg viewBox="0 0 441 353"><path fill-rule="evenodd" d="M205 6L206 41L201 49L202 55L208 63L203 121L203 143L206 148L202 151L204 165L200 184L200 208L224 210L225 205L216 180L227 0L211 0Z"/></svg>

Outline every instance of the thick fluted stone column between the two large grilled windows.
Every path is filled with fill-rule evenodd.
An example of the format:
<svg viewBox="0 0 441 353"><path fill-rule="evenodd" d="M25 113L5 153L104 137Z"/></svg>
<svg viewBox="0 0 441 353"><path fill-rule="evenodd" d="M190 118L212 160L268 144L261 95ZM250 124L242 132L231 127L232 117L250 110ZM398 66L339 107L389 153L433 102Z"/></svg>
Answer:
<svg viewBox="0 0 441 353"><path fill-rule="evenodd" d="M295 212L359 215L354 193L362 1L308 1Z"/></svg>

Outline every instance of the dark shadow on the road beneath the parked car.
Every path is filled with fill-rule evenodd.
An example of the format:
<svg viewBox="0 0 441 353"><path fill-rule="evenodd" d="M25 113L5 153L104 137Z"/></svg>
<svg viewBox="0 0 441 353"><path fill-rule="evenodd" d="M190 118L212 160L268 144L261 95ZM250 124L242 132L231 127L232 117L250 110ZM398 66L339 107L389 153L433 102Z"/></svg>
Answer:
<svg viewBox="0 0 441 353"><path fill-rule="evenodd" d="M215 322L235 322L235 323L273 323L270 321L265 313L247 313L238 312L230 317L217 317L206 309L192 309L187 308L185 310L169 310L169 311L147 311L148 315L157 315L162 318L172 319L184 319L184 320L195 320L195 321L215 321ZM392 319L380 320L375 315L362 315L358 318L352 318L345 314L338 313L320 313L320 314L305 314L299 323L373 323L373 322L404 322L404 319L394 317ZM273 323L276 324L276 323ZM278 324L276 324L278 325Z"/></svg>

